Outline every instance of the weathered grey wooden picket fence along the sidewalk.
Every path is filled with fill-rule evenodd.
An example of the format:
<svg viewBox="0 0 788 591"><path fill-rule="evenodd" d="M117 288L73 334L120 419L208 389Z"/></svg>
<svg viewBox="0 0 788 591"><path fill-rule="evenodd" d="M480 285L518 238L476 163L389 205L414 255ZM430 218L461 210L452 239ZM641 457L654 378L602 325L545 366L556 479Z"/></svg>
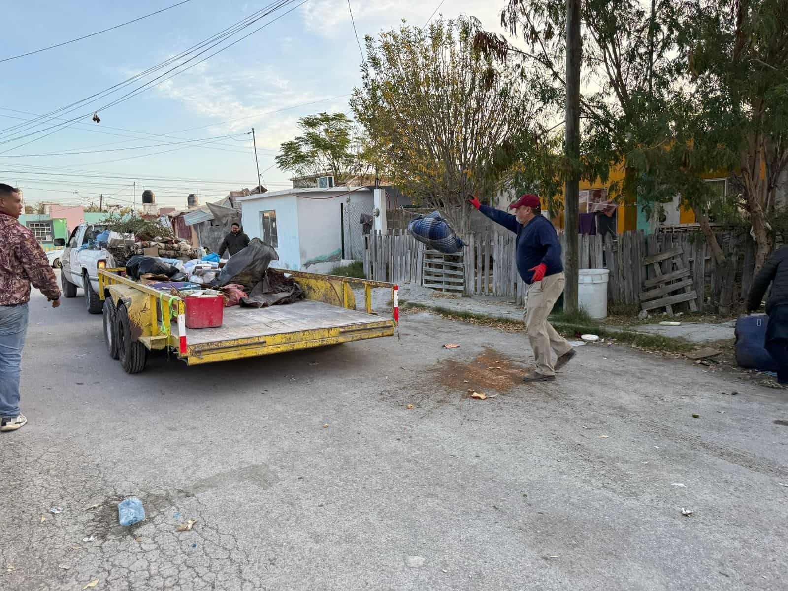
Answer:
<svg viewBox="0 0 788 591"><path fill-rule="evenodd" d="M464 236L467 246L461 265L443 266L452 281L444 281L444 291L457 292L459 270L464 270L464 294L487 299L505 299L523 304L527 286L519 277L515 262L515 234L492 229L485 233ZM717 239L727 257L734 262L734 301L745 299L753 281L755 243L742 232L724 232ZM565 236L560 236L562 258L566 252ZM699 233L660 233L645 236L642 231L624 232L617 236L578 236L578 264L580 269L609 269L608 304L640 304L641 293L653 284L656 272L653 265L643 266L644 258L680 247L682 254L676 262L666 258L660 262L662 275L675 268L689 268L696 293L693 300L698 310L715 309L720 294L726 288L726 273L717 269L708 245ZM425 258L426 256L426 258ZM430 262L433 254L407 234L407 230L389 230L386 234L366 237L364 273L366 277L395 283L414 282L436 287L435 269L440 265ZM454 261L455 259L452 259ZM427 280L425 279L425 262ZM727 273L730 275L730 273ZM686 281L686 280L685 280ZM729 278L730 281L730 278ZM438 285L438 287L441 287ZM709 307L709 303L712 307ZM686 306L682 304L681 306ZM680 310L681 307L678 307Z"/></svg>

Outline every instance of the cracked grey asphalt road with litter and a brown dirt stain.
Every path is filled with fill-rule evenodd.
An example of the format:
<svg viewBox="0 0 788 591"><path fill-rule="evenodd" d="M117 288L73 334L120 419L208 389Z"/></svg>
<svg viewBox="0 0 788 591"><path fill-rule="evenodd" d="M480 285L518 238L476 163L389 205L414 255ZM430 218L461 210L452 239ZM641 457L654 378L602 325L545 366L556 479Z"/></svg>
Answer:
<svg viewBox="0 0 788 591"><path fill-rule="evenodd" d="M607 345L523 385L532 360L413 314L399 340L129 376L81 298L35 292L0 589L788 588L783 391Z"/></svg>

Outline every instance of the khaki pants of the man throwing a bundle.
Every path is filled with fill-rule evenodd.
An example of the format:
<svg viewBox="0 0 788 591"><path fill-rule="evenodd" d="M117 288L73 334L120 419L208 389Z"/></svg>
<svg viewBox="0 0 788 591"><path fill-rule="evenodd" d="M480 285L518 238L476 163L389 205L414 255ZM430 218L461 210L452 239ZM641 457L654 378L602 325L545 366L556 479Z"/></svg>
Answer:
<svg viewBox="0 0 788 591"><path fill-rule="evenodd" d="M563 292L563 286L567 283L563 273L548 275L538 283L532 283L528 287L528 310L526 310L526 325L528 340L530 340L533 356L537 359L537 371L545 376L556 375L553 370L552 354L550 349L556 351L556 355L563 355L571 351L571 344L563 336L556 333L547 322L548 314L552 311L553 305Z"/></svg>

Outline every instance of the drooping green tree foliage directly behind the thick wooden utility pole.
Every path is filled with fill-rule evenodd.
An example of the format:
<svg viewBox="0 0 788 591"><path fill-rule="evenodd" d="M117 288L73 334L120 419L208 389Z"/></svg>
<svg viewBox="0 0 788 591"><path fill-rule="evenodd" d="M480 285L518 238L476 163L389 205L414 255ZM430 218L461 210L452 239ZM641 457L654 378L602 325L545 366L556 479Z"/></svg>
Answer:
<svg viewBox="0 0 788 591"><path fill-rule="evenodd" d="M537 182L541 196L560 195L567 174L578 169L583 180L607 183L611 164L622 163L629 173L623 183L611 185L611 197L635 191L639 184L652 201L673 198L666 147L674 137L671 99L681 76L681 66L671 58L680 9L672 0L582 3L582 155L576 162L559 157L556 137L545 143L548 153L534 153L541 146L519 145L519 168L530 169L531 177L543 175ZM501 23L522 37L524 47L489 32L476 38L485 53L517 61L531 72L539 99L560 120L566 101L566 17L565 0L510 0Z"/></svg>

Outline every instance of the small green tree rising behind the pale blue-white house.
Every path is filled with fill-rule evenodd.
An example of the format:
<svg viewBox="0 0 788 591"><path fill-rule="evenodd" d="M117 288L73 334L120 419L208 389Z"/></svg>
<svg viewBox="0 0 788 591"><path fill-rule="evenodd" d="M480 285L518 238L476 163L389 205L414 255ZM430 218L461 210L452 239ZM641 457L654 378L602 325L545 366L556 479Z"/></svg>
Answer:
<svg viewBox="0 0 788 591"><path fill-rule="evenodd" d="M370 174L362 138L354 136L344 113L319 113L299 119L302 135L281 144L276 162L296 177L333 175L337 185Z"/></svg>

